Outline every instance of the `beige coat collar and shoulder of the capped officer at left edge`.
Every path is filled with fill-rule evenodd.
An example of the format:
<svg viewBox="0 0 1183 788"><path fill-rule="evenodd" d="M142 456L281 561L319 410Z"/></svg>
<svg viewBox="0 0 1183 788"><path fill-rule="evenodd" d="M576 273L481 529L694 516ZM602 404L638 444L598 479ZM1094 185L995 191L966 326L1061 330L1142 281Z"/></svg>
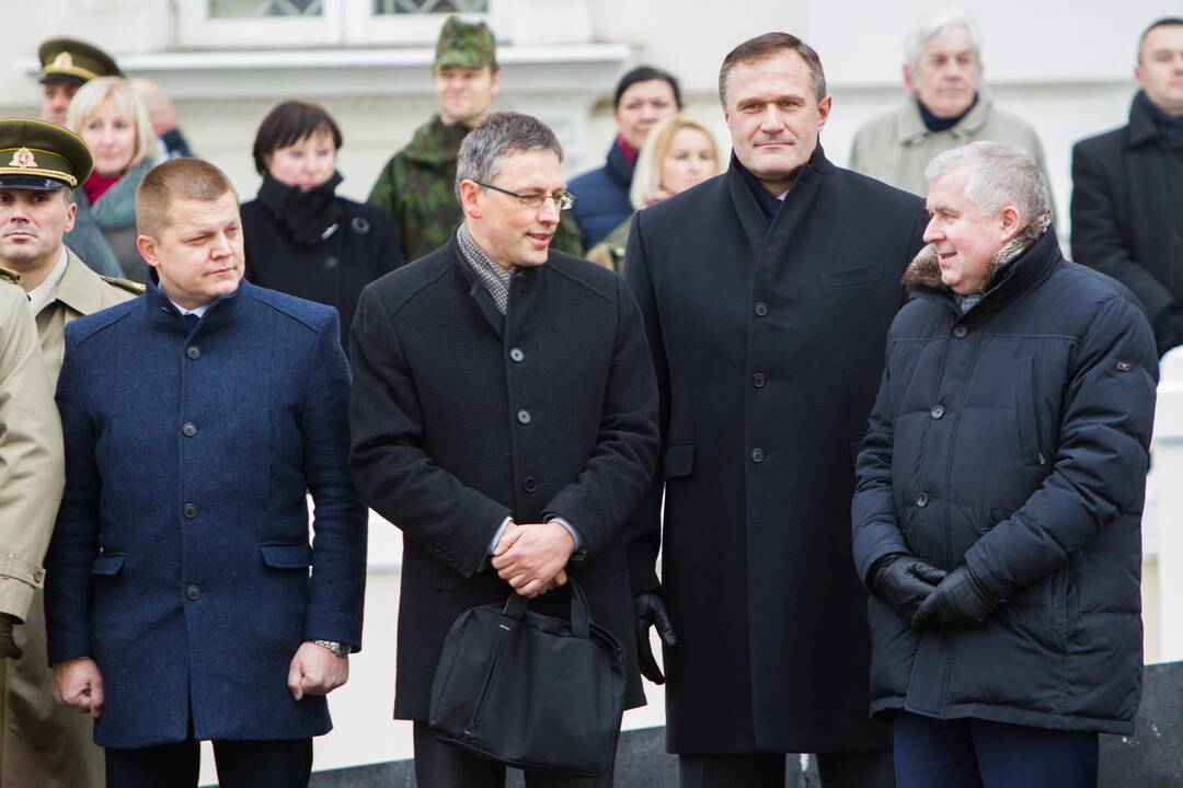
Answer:
<svg viewBox="0 0 1183 788"><path fill-rule="evenodd" d="M53 390L58 388L58 373L62 371L66 324L84 314L129 301L144 292L143 285L125 279L99 276L69 249L66 255L66 271L58 282L57 293L37 312L37 333L41 340L41 354L45 357L45 367L50 373L50 386Z"/></svg>

